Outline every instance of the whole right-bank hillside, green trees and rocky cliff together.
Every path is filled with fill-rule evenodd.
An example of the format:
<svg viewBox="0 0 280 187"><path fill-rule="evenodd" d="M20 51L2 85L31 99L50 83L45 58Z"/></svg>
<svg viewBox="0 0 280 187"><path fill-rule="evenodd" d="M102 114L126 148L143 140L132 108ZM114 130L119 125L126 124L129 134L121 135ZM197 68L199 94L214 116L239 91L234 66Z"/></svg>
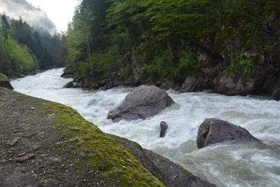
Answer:
<svg viewBox="0 0 280 187"><path fill-rule="evenodd" d="M84 88L155 84L280 97L279 0L83 0L66 71Z"/></svg>

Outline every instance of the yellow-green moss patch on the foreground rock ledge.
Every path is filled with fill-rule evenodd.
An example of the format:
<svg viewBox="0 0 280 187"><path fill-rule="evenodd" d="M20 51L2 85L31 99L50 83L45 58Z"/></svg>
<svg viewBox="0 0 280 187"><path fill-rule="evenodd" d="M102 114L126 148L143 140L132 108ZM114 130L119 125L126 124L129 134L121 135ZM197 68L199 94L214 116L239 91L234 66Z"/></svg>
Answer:
<svg viewBox="0 0 280 187"><path fill-rule="evenodd" d="M83 165L99 168L99 177L105 183L120 186L164 186L142 165L141 160L123 148L116 139L105 134L96 125L87 122L73 109L46 102L43 113L55 113L55 130L63 134L69 154L80 156ZM76 174L83 172L76 170Z"/></svg>

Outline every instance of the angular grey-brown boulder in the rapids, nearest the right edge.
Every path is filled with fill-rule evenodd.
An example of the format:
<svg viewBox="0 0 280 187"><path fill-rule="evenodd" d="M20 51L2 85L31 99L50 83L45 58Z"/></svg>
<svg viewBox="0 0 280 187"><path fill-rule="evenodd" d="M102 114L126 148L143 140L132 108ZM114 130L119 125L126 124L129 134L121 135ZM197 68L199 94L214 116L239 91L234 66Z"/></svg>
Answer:
<svg viewBox="0 0 280 187"><path fill-rule="evenodd" d="M205 119L197 132L197 148L229 140L262 143L243 127L217 118Z"/></svg>

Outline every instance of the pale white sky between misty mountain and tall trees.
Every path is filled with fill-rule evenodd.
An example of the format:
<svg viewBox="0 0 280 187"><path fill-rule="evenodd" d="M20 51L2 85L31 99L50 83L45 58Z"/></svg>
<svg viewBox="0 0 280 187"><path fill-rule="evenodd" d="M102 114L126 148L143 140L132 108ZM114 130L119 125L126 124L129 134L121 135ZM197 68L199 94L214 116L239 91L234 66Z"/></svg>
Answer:
<svg viewBox="0 0 280 187"><path fill-rule="evenodd" d="M72 20L75 6L79 0L27 0L35 7L47 13L58 31L66 31L67 23Z"/></svg>

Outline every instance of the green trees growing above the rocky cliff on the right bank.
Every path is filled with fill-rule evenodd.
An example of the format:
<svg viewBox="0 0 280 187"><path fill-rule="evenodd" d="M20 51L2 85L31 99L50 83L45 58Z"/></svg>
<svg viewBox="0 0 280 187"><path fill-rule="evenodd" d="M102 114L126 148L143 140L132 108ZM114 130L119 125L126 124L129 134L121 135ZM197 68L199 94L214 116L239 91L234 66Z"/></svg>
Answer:
<svg viewBox="0 0 280 187"><path fill-rule="evenodd" d="M279 53L273 33L279 14L279 0L83 0L67 32L67 71L109 76L132 55L128 64L144 83L183 83L201 71L198 51L205 50L228 71L244 74L258 54Z"/></svg>

